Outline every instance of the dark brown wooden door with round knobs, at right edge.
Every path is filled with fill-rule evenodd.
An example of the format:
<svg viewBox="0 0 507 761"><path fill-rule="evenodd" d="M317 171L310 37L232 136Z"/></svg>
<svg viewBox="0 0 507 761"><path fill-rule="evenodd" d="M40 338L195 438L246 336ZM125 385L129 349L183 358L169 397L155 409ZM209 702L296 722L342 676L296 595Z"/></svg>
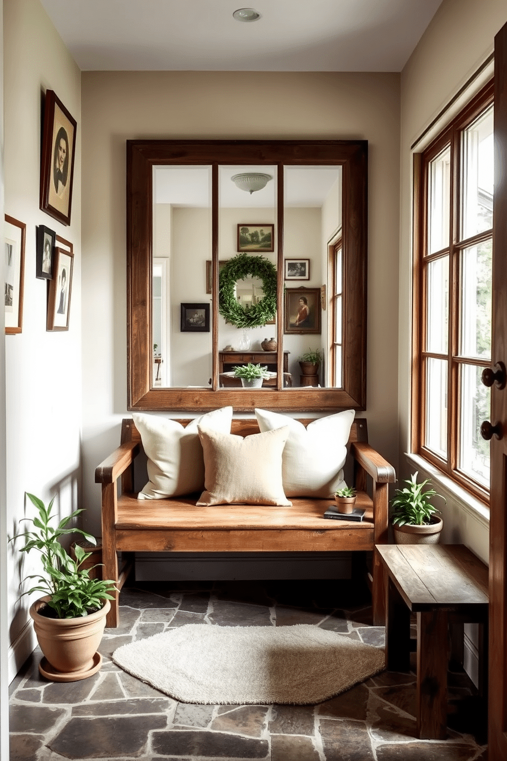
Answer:
<svg viewBox="0 0 507 761"><path fill-rule="evenodd" d="M489 761L507 759L507 24L495 37ZM485 371L486 372L486 371ZM488 378L486 377L486 380ZM489 380L493 380L490 377ZM489 385L489 383L488 383Z"/></svg>

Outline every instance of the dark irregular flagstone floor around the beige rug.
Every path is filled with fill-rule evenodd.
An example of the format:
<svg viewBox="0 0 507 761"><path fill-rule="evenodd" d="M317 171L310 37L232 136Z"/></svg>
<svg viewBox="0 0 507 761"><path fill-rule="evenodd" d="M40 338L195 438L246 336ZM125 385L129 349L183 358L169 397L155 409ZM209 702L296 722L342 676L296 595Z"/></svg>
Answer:
<svg viewBox="0 0 507 761"><path fill-rule="evenodd" d="M383 672L318 705L190 705L116 667L126 642L189 622L210 626L311 623L384 645L368 593L349 581L236 581L124 587L118 629L106 629L103 667L87 680L50 683L36 651L11 685L10 761L486 761L473 686L449 675L445 741L416 740L414 672ZM2 759L3 761L3 759Z"/></svg>

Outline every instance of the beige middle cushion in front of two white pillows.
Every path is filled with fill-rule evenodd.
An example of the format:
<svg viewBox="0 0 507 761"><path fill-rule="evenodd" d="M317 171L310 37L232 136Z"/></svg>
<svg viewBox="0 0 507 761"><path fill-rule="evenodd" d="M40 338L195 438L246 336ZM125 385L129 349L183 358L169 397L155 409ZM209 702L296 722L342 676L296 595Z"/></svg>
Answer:
<svg viewBox="0 0 507 761"><path fill-rule="evenodd" d="M282 452L289 428L234 436L199 426L205 491L198 505L288 505L282 485Z"/></svg>

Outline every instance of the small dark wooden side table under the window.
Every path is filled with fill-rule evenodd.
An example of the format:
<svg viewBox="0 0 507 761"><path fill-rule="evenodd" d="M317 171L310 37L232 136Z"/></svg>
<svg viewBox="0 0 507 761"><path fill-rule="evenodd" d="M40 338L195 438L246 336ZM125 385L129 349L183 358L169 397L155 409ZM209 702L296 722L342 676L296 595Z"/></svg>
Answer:
<svg viewBox="0 0 507 761"><path fill-rule="evenodd" d="M417 613L417 737L443 740L448 623L481 625L479 689L483 700L487 697L488 569L461 544L385 544L376 549L388 574L386 667L410 670L410 613Z"/></svg>

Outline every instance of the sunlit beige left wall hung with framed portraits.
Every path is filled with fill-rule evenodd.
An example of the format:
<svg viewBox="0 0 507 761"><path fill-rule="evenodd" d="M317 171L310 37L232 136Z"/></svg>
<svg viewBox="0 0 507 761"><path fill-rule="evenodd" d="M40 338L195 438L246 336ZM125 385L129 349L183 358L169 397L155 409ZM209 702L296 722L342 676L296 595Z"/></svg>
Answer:
<svg viewBox="0 0 507 761"><path fill-rule="evenodd" d="M4 0L5 212L27 225L23 332L5 336L8 532L24 492L56 495L63 517L81 489L81 72L39 0ZM70 227L39 210L42 95L52 89L78 122ZM36 226L74 244L69 330L46 333L46 282L35 277ZM29 503L30 505L30 503ZM30 506L27 506L27 512ZM31 511L30 511L31 514ZM29 600L17 602L19 556L8 552L11 677L33 649ZM32 553L24 573L36 562Z"/></svg>

